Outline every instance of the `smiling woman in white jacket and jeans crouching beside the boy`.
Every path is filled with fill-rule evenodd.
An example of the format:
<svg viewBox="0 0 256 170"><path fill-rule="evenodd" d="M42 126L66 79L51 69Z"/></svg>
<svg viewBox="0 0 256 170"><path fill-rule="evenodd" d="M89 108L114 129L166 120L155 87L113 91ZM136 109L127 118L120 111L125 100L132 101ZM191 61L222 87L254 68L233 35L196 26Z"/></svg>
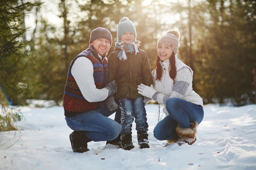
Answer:
<svg viewBox="0 0 256 170"><path fill-rule="evenodd" d="M166 117L154 129L158 140L179 145L196 141L196 127L203 119L202 98L192 90L193 71L178 59L180 33L172 30L157 42L152 71L153 85L138 85L138 93L165 105Z"/></svg>

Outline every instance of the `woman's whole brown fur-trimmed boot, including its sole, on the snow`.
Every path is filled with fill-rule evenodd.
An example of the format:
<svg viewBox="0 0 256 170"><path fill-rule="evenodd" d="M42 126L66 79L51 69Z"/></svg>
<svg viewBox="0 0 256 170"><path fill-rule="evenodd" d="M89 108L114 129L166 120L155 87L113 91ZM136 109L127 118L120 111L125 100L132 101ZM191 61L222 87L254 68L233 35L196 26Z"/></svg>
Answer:
<svg viewBox="0 0 256 170"><path fill-rule="evenodd" d="M196 121L190 122L191 127L180 127L178 125L175 129L177 135L179 136L178 141L176 142L179 145L182 144L193 144L196 141L196 127L198 123Z"/></svg>

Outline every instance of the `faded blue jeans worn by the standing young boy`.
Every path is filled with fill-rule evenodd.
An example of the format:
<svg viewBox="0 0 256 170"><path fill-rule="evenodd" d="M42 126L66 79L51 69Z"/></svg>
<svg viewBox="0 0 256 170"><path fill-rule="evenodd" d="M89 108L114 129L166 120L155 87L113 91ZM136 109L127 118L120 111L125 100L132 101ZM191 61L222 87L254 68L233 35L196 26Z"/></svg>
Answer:
<svg viewBox="0 0 256 170"><path fill-rule="evenodd" d="M136 130L148 130L146 122L146 109L143 97L135 99L119 99L121 110L121 133L128 133L132 130L132 123L135 118Z"/></svg>

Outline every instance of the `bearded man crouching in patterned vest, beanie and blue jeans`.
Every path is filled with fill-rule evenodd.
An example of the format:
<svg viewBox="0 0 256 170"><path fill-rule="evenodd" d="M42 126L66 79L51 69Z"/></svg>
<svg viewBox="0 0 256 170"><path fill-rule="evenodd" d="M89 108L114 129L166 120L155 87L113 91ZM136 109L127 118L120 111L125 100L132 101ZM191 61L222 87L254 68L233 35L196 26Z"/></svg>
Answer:
<svg viewBox="0 0 256 170"><path fill-rule="evenodd" d="M112 35L106 28L91 31L89 48L76 56L69 66L64 91L64 114L73 152L89 151L87 143L110 141L119 136L118 122L107 118L114 111L104 100L117 92L115 80L108 84L108 59Z"/></svg>

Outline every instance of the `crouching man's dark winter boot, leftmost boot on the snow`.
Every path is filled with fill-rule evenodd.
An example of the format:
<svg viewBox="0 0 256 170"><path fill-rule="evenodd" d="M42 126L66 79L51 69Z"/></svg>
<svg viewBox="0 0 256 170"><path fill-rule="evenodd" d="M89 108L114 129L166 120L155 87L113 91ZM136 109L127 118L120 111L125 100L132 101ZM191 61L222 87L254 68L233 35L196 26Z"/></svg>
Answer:
<svg viewBox="0 0 256 170"><path fill-rule="evenodd" d="M85 136L84 131L73 131L69 135L73 152L83 153L89 151L87 148L87 143L91 141L87 136Z"/></svg>

